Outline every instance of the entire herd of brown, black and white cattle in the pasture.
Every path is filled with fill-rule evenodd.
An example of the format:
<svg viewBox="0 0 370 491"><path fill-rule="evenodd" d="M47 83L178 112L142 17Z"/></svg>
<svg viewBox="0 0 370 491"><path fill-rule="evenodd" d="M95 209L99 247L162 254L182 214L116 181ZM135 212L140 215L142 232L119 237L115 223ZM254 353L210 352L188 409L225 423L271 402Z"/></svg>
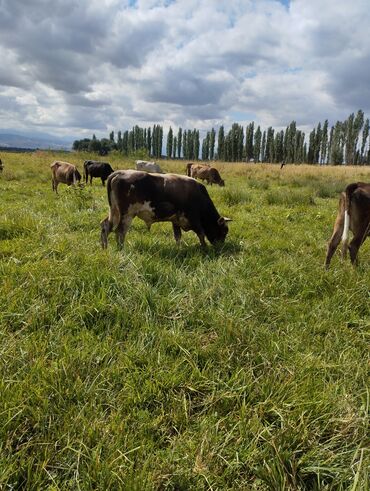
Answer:
<svg viewBox="0 0 370 491"><path fill-rule="evenodd" d="M55 161L51 164L52 188L58 193L60 183L76 185L82 179L77 167L68 162ZM0 159L0 172L4 166ZM227 222L216 210L207 189L196 179L207 184L224 186L219 172L209 165L188 163L186 176L166 174L156 162L136 161L136 170L114 171L108 162L86 160L83 165L86 184L94 177L107 181L109 215L101 222L101 244L108 245L108 235L113 230L117 243L122 246L132 220L141 218L150 229L155 222L172 222L177 243L181 231L192 230L205 246L205 239L211 244L223 243L228 233ZM349 231L353 239L348 244ZM342 255L349 250L351 262L355 263L357 253L370 236L370 184L357 182L346 187L341 193L339 211L329 241L325 259L326 268L342 241Z"/></svg>

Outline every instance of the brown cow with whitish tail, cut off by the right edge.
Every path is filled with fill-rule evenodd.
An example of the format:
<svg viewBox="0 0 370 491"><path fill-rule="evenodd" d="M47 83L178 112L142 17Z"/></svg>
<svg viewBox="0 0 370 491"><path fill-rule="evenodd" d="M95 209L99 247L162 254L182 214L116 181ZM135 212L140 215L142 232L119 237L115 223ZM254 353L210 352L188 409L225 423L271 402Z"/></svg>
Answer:
<svg viewBox="0 0 370 491"><path fill-rule="evenodd" d="M353 239L348 246L349 230L353 232ZM355 263L358 250L368 235L370 235L370 184L355 182L349 184L340 196L339 211L326 254L326 268L329 267L341 240L343 257L349 249L351 262Z"/></svg>

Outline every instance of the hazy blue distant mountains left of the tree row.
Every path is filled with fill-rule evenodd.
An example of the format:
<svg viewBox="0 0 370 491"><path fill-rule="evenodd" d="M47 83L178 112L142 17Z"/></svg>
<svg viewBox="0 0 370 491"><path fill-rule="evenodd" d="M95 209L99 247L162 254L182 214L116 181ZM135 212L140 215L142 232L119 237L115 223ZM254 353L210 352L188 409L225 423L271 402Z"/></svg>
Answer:
<svg viewBox="0 0 370 491"><path fill-rule="evenodd" d="M0 130L0 147L71 150L72 141L70 138L60 138L46 133L25 135Z"/></svg>

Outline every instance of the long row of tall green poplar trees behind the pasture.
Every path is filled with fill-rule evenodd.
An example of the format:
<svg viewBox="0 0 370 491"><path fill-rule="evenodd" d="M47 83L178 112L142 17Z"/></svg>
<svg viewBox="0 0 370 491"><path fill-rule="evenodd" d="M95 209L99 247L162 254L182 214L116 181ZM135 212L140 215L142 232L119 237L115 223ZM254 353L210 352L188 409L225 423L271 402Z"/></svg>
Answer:
<svg viewBox="0 0 370 491"><path fill-rule="evenodd" d="M109 138L84 138L73 143L73 150L97 152L102 155L117 150L125 156L146 155L171 159L221 160L225 162L268 162L309 164L370 165L369 119L360 109L344 121L329 127L328 120L306 135L292 121L285 130L272 126L262 129L252 121L245 128L234 123L226 132L224 126L207 131L200 140L198 129L169 128L164 148L163 127L134 126L117 137L112 131Z"/></svg>

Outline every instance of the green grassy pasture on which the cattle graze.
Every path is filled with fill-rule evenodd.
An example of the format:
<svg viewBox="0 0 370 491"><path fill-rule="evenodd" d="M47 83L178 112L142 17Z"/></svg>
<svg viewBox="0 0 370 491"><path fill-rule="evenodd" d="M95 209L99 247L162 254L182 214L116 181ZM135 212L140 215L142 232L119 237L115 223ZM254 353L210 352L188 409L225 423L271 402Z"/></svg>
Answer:
<svg viewBox="0 0 370 491"><path fill-rule="evenodd" d="M100 182L51 190L86 157L1 154L0 489L369 489L370 240L323 262L370 169L219 164L222 249L102 251Z"/></svg>

